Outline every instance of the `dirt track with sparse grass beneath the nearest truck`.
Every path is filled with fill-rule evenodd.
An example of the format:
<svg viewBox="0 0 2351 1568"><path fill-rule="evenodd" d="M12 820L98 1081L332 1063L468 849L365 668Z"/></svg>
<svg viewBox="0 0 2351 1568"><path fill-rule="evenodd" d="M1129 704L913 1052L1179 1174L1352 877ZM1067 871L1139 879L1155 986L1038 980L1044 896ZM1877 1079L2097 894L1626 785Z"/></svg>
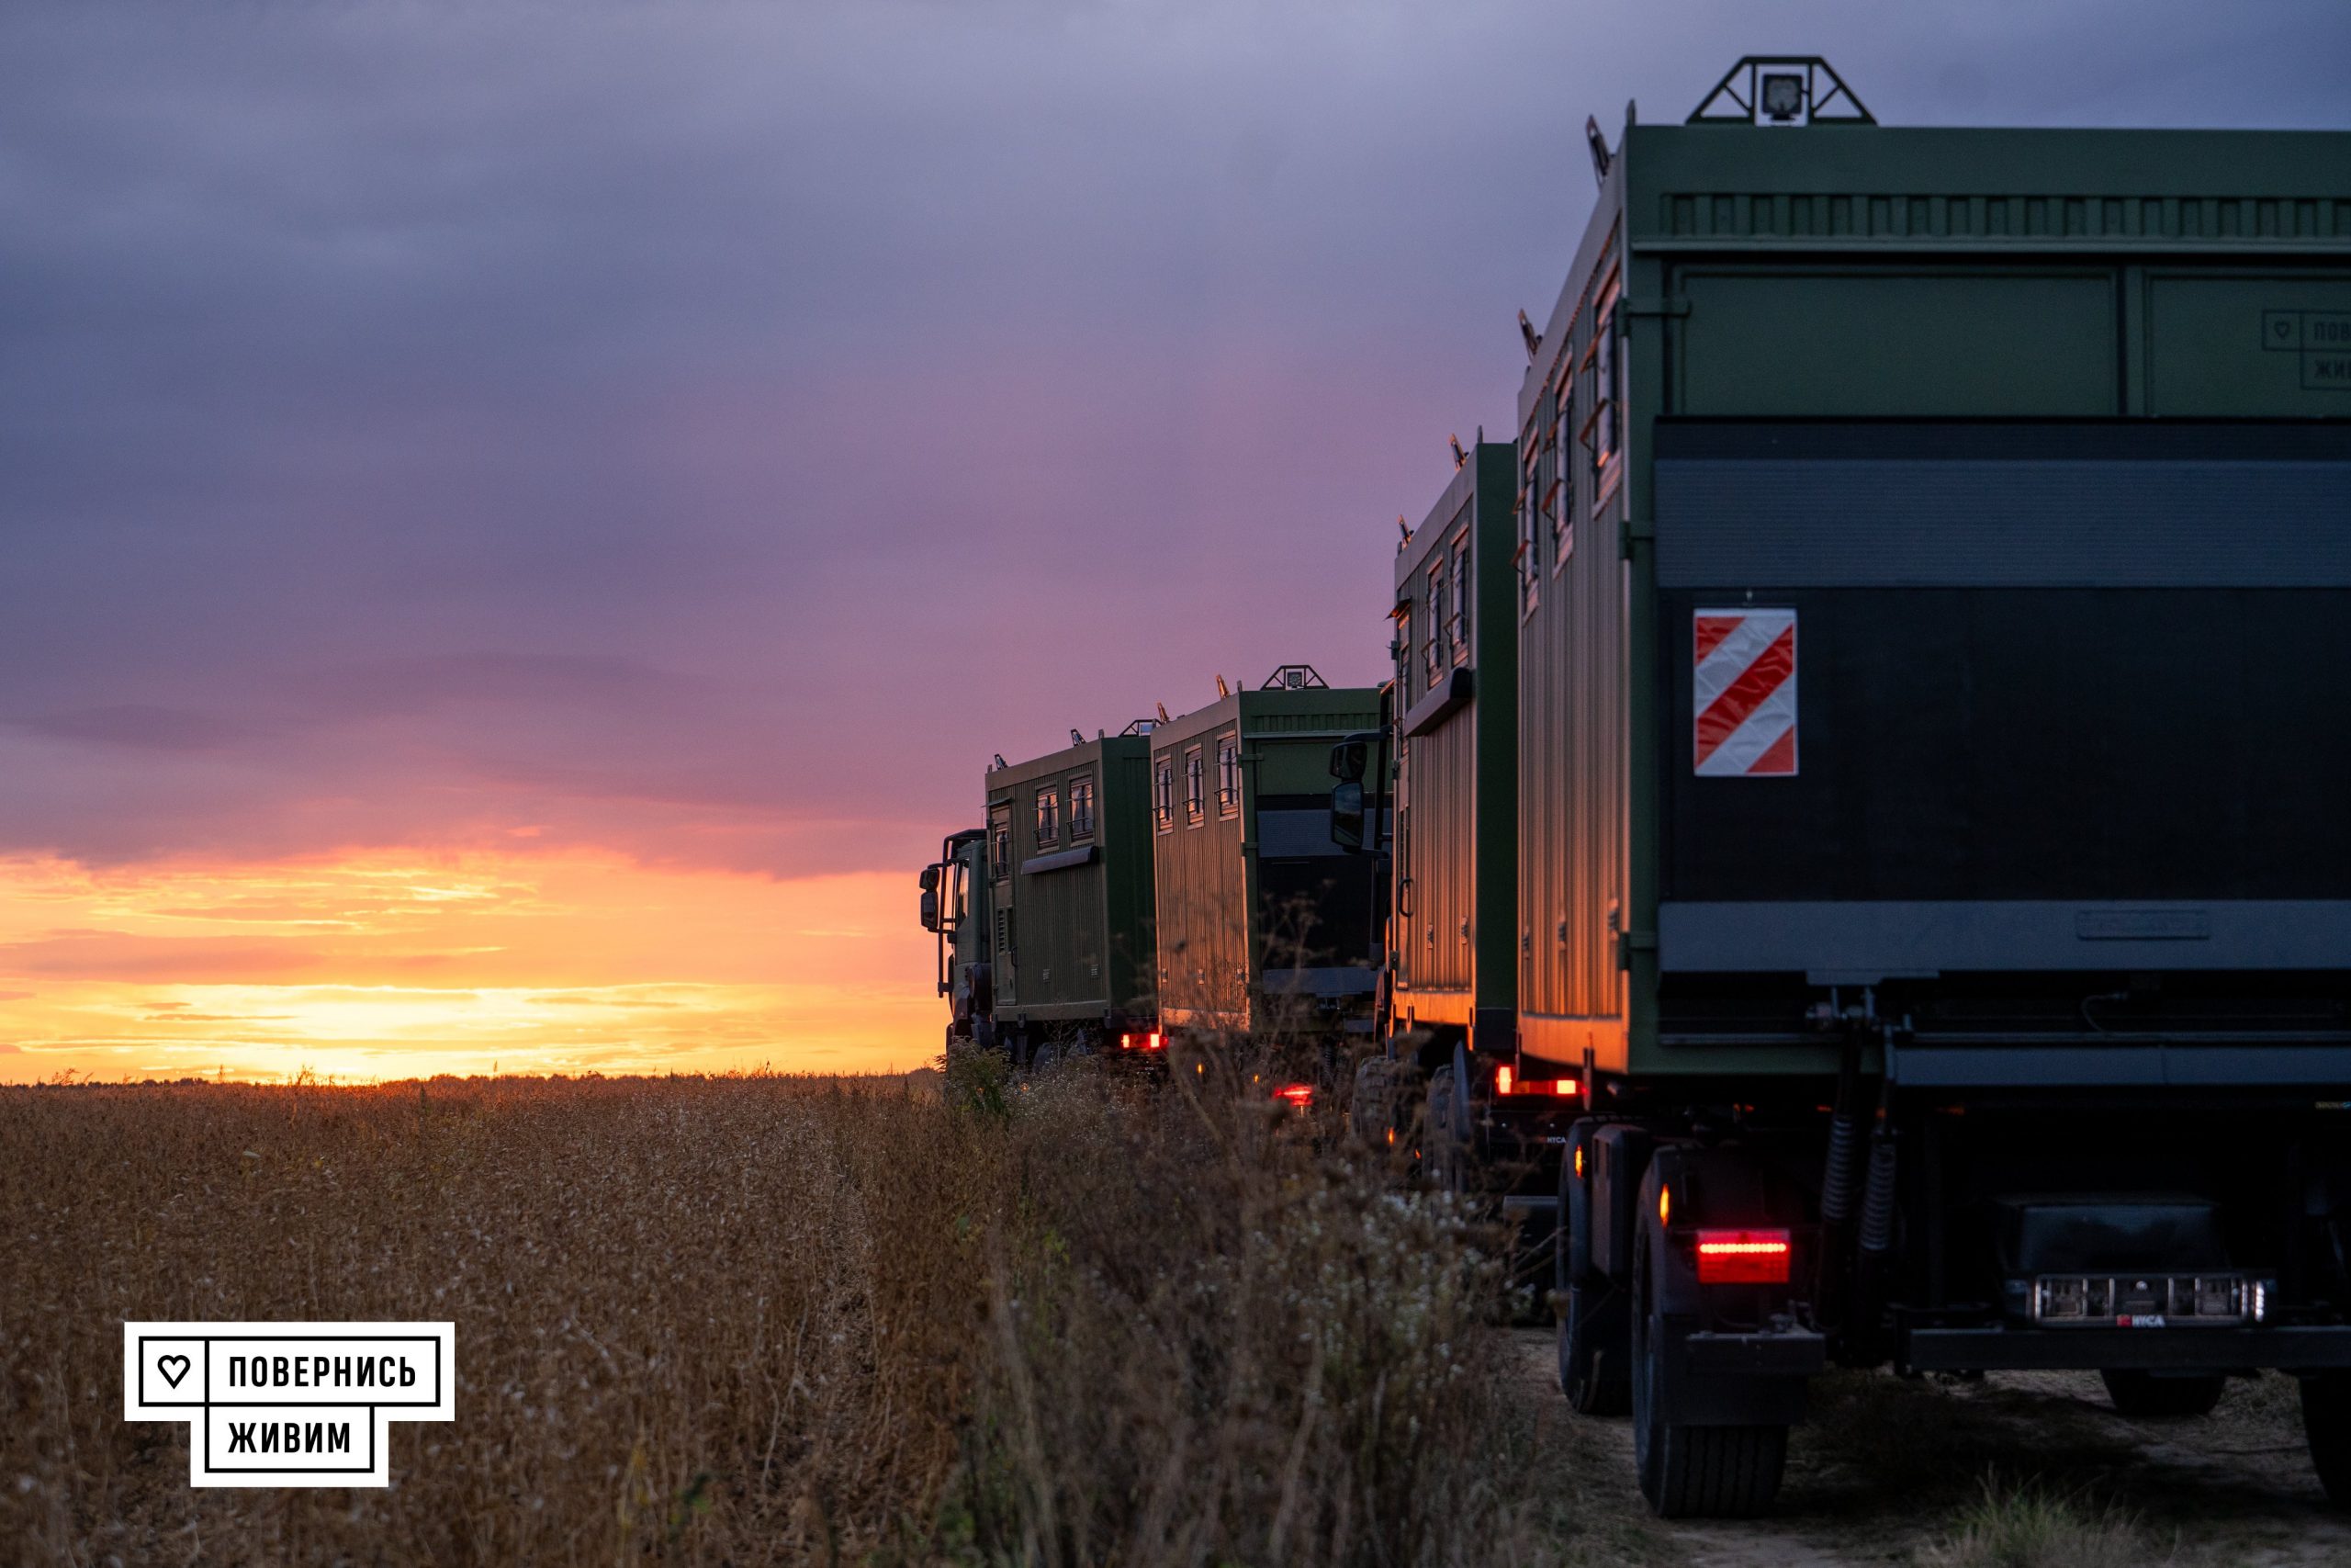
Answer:
<svg viewBox="0 0 2351 1568"><path fill-rule="evenodd" d="M2130 1512L2149 1563L2351 1563L2351 1514L2318 1490L2292 1378L2231 1382L2201 1420L2125 1420L2095 1373L1834 1373L1789 1441L1773 1519L1667 1526L1634 1490L1632 1422L1568 1410L1549 1333L1514 1331L1512 1354L1547 1469L1580 1476L1570 1521L1589 1563L1909 1563L1987 1474Z"/></svg>

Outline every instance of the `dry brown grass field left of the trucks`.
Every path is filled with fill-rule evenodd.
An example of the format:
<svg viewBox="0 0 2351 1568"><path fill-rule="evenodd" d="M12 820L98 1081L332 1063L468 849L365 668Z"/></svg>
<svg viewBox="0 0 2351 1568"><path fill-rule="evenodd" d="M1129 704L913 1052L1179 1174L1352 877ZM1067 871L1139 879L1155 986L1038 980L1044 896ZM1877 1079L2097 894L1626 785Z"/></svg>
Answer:
<svg viewBox="0 0 2351 1568"><path fill-rule="evenodd" d="M1469 1229L1213 1081L0 1091L0 1561L1547 1556ZM190 1490L125 1319L451 1319L456 1422Z"/></svg>

